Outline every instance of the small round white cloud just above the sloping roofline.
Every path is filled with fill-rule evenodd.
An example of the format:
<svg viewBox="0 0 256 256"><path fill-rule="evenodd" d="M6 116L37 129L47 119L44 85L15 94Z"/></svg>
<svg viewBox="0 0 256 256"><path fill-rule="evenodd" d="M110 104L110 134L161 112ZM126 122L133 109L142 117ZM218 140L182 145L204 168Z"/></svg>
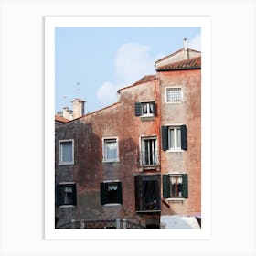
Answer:
<svg viewBox="0 0 256 256"><path fill-rule="evenodd" d="M112 104L116 101L116 92L118 87L111 82L103 82L97 91L97 98L102 105Z"/></svg>

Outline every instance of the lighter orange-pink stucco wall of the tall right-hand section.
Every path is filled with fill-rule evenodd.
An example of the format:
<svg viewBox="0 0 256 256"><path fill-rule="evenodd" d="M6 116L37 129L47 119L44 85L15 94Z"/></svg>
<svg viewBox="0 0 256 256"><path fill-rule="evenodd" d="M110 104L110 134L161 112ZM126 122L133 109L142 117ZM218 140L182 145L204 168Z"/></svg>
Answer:
<svg viewBox="0 0 256 256"><path fill-rule="evenodd" d="M186 124L187 150L161 151L161 172L187 173L188 198L168 201L170 208L162 213L193 214L201 211L201 70L159 72L161 84L161 125ZM179 86L183 91L181 103L166 103L166 87Z"/></svg>

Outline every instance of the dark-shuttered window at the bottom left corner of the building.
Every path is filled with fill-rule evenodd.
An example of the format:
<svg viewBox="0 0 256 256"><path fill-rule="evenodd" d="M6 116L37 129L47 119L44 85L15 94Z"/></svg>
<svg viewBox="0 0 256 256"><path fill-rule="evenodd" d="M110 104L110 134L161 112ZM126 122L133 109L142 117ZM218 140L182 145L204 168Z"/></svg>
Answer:
<svg viewBox="0 0 256 256"><path fill-rule="evenodd" d="M77 192L75 183L59 184L57 187L57 205L76 206Z"/></svg>

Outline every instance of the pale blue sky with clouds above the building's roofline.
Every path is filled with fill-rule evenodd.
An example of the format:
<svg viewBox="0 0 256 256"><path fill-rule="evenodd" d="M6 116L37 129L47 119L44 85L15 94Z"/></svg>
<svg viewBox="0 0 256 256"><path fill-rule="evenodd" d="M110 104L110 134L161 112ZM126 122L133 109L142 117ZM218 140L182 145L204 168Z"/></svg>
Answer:
<svg viewBox="0 0 256 256"><path fill-rule="evenodd" d="M116 91L155 74L155 60L183 48L201 49L200 27L57 27L55 111L75 98L85 113L116 101Z"/></svg>

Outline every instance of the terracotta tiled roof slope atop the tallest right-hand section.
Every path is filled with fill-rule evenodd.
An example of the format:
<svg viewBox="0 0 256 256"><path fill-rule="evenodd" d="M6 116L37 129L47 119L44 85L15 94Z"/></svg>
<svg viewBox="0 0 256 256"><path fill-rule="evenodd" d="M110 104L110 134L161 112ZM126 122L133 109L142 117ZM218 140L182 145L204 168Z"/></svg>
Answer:
<svg viewBox="0 0 256 256"><path fill-rule="evenodd" d="M201 69L201 57L195 57L191 59L184 59L174 63L159 66L156 71L168 71L168 70L185 70L185 69Z"/></svg>

